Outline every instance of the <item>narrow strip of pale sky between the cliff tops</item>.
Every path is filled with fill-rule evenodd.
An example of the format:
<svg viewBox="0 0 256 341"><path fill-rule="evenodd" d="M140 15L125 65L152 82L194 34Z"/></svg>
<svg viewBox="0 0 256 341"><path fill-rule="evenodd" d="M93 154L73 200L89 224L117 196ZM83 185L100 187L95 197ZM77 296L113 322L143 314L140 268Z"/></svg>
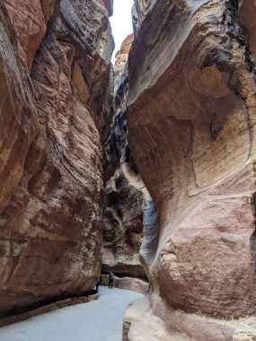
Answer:
<svg viewBox="0 0 256 341"><path fill-rule="evenodd" d="M114 0L114 13L110 18L112 34L116 48L112 55L112 63L115 62L115 54L119 50L122 41L132 33L131 7L133 0Z"/></svg>

